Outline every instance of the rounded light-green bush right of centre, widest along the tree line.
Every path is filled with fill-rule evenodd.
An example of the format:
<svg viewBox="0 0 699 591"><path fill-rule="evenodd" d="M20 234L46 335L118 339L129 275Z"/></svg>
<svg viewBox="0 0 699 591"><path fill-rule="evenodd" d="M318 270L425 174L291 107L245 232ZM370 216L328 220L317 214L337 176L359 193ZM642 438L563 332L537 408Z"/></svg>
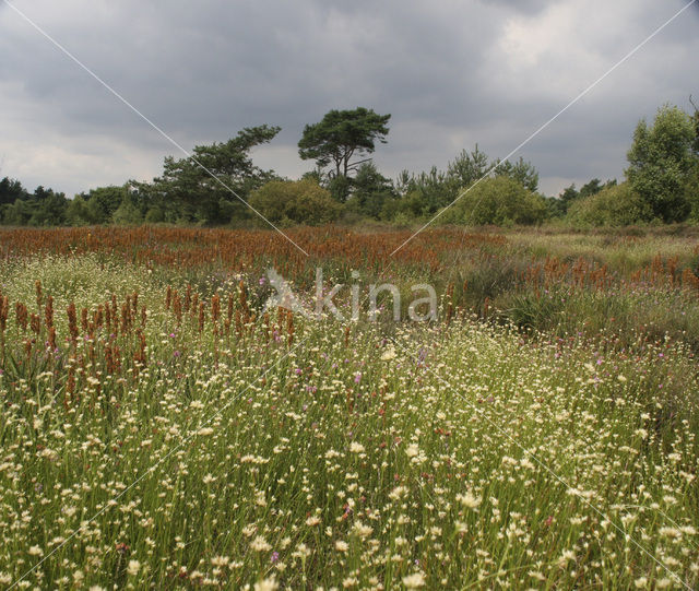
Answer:
<svg viewBox="0 0 699 591"><path fill-rule="evenodd" d="M475 185L441 217L458 224L511 226L538 224L546 213L542 196L512 178L499 176Z"/></svg>

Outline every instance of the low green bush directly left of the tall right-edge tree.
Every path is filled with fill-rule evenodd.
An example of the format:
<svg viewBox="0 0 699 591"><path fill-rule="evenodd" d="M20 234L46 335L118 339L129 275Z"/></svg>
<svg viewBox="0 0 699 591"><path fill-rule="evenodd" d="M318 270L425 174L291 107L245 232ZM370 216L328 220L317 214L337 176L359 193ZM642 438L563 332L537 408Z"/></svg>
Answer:
<svg viewBox="0 0 699 591"><path fill-rule="evenodd" d="M578 226L629 226L652 221L653 210L628 182L621 182L574 201L567 220Z"/></svg>

